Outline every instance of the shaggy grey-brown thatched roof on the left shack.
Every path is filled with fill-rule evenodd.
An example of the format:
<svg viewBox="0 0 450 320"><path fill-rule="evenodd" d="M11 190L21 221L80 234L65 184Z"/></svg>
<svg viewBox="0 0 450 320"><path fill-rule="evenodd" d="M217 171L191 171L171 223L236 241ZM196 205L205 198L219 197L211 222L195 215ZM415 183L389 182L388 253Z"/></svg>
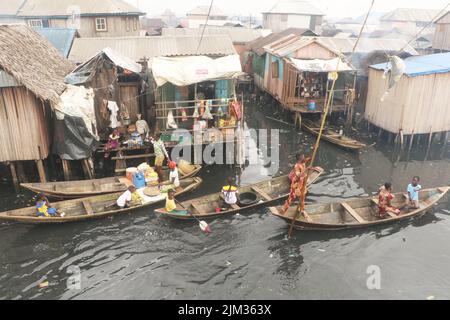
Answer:
<svg viewBox="0 0 450 320"><path fill-rule="evenodd" d="M0 25L0 68L37 97L56 102L74 65L32 28Z"/></svg>

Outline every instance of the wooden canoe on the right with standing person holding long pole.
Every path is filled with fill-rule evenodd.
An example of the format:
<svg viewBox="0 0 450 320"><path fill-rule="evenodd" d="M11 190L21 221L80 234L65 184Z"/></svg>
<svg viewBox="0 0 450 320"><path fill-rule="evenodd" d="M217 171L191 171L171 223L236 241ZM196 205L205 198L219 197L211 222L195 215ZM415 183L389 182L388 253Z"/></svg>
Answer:
<svg viewBox="0 0 450 320"><path fill-rule="evenodd" d="M310 219L307 220L299 214L295 220L294 228L299 230L340 230L393 223L425 214L449 190L450 187L422 190L419 194L419 209L402 209L399 215L387 214L384 218L378 216L378 198L373 197L306 205L305 211ZM405 204L405 200L405 194L395 194L392 205L401 208ZM286 214L282 214L281 209L281 207L271 207L270 211L274 216L283 219L289 225L292 224L297 207L292 206Z"/></svg>

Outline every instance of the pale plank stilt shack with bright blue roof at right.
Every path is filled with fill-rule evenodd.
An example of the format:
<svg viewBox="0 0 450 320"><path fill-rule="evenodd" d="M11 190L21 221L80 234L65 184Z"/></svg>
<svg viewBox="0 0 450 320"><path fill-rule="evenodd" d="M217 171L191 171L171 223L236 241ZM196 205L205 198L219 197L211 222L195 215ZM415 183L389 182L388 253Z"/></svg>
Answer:
<svg viewBox="0 0 450 320"><path fill-rule="evenodd" d="M405 72L390 92L390 63L369 68L369 90L365 119L400 136L450 130L450 53L409 57ZM403 139L401 139L403 140Z"/></svg>

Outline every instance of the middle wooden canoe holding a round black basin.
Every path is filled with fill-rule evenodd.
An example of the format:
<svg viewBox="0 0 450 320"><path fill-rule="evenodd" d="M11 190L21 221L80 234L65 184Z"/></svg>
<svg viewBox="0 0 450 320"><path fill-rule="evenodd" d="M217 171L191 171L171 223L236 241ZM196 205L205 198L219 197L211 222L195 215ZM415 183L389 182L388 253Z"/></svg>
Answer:
<svg viewBox="0 0 450 320"><path fill-rule="evenodd" d="M312 183L317 181L317 179L323 173L324 170L322 168L311 168L309 170L310 172L308 185L311 185ZM182 209L181 207L183 207L184 208L183 210L188 211L188 214L182 215L182 214L168 213L165 208L156 209L155 213L160 214L161 216L180 220L194 219L192 214L195 217L201 219L214 218L217 216L223 216L228 214L235 214L238 212L242 212L244 210L264 206L277 200L281 200L283 198L287 198L290 191L290 185L291 182L289 180L289 177L286 175L271 180L255 183L253 185L241 187L239 188L239 193L241 195L247 192L253 193L257 196L256 201L248 206L235 205L226 211L216 212L216 208L219 208L221 206L221 203L223 202L222 192L218 192L200 198L181 202L179 205L180 209Z"/></svg>

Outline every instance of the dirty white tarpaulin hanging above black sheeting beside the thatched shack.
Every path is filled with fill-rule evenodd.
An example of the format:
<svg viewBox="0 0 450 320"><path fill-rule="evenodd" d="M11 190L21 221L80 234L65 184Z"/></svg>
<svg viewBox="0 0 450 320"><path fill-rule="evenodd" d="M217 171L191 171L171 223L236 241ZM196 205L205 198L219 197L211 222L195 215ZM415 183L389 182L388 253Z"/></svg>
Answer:
<svg viewBox="0 0 450 320"><path fill-rule="evenodd" d="M55 111L59 120L63 120L64 115L82 118L89 133L99 140L95 120L94 90L92 88L86 89L83 86L67 85L66 90L60 96L60 102L55 106Z"/></svg>

